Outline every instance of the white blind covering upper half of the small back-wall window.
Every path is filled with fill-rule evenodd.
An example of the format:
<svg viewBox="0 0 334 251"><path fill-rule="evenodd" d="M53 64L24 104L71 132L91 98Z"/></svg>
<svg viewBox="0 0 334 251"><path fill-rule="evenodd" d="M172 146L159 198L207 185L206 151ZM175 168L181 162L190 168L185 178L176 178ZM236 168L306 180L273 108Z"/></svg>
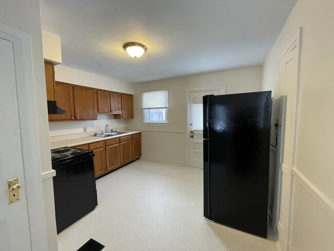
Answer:
<svg viewBox="0 0 334 251"><path fill-rule="evenodd" d="M143 109L167 109L168 90L142 94Z"/></svg>

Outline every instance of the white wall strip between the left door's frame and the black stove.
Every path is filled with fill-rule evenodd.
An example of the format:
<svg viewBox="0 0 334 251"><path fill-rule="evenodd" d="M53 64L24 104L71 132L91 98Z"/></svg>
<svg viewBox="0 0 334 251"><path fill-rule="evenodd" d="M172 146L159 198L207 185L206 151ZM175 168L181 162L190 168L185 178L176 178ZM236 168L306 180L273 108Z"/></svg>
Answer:
<svg viewBox="0 0 334 251"><path fill-rule="evenodd" d="M43 63L40 1L1 1L0 23L30 34L33 86L29 86L29 88L27 87L26 96L27 100L30 100L31 98L34 99L31 107L33 107L35 111L31 112L27 108L27 111L29 110L28 121L30 121L30 123L26 124L26 127L29 128L31 134L36 135L38 144L30 142L31 152L34 153L30 157L36 165L32 165L30 167L31 170L26 172L25 180L27 194L29 187L34 187L32 190L40 192L36 192L30 197L27 196L28 199L30 198L28 200L28 209L30 209L28 211L30 234L33 250L58 250L57 232L55 230L54 219L52 177L44 178L42 183L43 175L41 175L41 173L43 174L52 171L52 169L49 151L50 143ZM29 77L30 74L30 72L26 73ZM31 114L34 114L34 117L30 117ZM2 144L6 144L6 142L2 142ZM36 153L34 149L36 149ZM41 194L42 189L43 194ZM32 205L32 208L30 208L29 205ZM20 241L20 239L18 238L17 241Z"/></svg>

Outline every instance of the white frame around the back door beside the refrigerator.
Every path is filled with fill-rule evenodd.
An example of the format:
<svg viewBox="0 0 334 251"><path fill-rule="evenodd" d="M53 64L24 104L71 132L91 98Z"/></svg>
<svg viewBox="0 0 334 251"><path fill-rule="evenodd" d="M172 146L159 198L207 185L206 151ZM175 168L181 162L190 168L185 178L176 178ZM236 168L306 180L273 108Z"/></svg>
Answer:
<svg viewBox="0 0 334 251"><path fill-rule="evenodd" d="M197 88L190 88L185 90L185 96L187 100L187 127L185 130L185 166L189 167L190 164L190 145L189 145L189 138L190 138L190 94L191 93L199 93L199 92L210 92L210 91L221 91L221 95L226 94L226 85L218 85L218 86L211 86L211 87L197 87Z"/></svg>

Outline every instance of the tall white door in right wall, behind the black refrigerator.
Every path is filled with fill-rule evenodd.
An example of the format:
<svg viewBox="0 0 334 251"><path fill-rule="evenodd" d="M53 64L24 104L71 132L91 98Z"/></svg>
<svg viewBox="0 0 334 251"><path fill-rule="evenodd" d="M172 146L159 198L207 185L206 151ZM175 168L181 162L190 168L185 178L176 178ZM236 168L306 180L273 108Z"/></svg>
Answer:
<svg viewBox="0 0 334 251"><path fill-rule="evenodd" d="M278 204L280 231L279 245L282 250L289 250L290 213L293 178L291 168L294 167L294 149L296 124L298 121L298 70L299 70L299 35L292 41L282 58L282 98L280 99L281 115L279 131L279 168L280 199Z"/></svg>

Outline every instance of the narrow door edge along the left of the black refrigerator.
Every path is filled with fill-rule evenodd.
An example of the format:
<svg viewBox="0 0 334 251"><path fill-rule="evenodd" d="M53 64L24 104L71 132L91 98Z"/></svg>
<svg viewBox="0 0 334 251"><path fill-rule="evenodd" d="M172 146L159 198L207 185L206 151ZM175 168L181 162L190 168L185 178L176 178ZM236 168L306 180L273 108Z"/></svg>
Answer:
<svg viewBox="0 0 334 251"><path fill-rule="evenodd" d="M203 205L204 217L209 219L209 121L208 121L209 97L203 96Z"/></svg>

